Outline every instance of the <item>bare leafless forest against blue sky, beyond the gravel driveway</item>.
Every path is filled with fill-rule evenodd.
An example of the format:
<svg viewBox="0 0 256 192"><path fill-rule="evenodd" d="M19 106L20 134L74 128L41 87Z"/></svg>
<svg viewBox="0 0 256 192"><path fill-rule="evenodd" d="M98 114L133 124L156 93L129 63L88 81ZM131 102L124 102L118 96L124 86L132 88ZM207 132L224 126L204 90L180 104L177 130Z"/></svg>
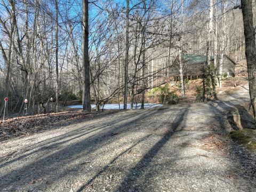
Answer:
<svg viewBox="0 0 256 192"><path fill-rule="evenodd" d="M211 82L203 81L214 94L222 83L223 57L245 60L242 10L234 9L239 5L232 0L2 0L1 100L9 98L9 113L22 113L25 99L31 113L42 113L51 97L55 111L68 99L83 100L87 111L90 103L99 110L113 99L124 108L135 100L143 106L145 92L170 82L182 53L206 55L205 68L214 57L217 70L210 71ZM184 67L180 62L183 96ZM3 109L1 102L1 114Z"/></svg>

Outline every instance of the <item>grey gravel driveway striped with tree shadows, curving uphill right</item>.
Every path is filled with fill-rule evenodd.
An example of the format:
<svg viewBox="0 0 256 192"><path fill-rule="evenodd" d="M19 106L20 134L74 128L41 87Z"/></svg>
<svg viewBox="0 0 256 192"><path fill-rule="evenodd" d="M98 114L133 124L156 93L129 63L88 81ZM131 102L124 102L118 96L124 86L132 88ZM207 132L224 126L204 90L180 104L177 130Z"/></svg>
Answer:
<svg viewBox="0 0 256 192"><path fill-rule="evenodd" d="M255 154L224 137L234 95L0 142L0 191L256 191Z"/></svg>

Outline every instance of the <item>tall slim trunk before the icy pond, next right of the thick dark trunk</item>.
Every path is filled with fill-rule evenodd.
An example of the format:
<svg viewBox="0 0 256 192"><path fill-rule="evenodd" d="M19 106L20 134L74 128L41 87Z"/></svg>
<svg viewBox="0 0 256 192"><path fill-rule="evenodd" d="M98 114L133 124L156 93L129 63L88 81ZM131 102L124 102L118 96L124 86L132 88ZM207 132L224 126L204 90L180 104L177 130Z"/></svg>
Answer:
<svg viewBox="0 0 256 192"><path fill-rule="evenodd" d="M129 67L129 8L130 2L126 0L126 28L125 28L125 68L124 68L124 109L127 109L128 67Z"/></svg>

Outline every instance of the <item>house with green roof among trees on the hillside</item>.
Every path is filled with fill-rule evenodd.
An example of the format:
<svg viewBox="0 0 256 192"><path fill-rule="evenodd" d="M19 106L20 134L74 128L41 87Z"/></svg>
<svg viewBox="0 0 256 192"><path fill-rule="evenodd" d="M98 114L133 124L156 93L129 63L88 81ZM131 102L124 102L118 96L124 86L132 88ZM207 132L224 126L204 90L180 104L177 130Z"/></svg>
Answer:
<svg viewBox="0 0 256 192"><path fill-rule="evenodd" d="M204 66L206 66L207 56L206 55L195 55L195 54L181 54L182 65L183 65L183 76L187 79L201 78L204 74ZM214 56L210 58L210 62L214 63ZM179 72L179 57L177 57L173 65L169 69L169 76L174 80L178 81L180 78ZM219 65L219 62L218 62ZM235 62L230 59L227 55L223 58L222 63L222 74L227 77L235 76ZM219 67L217 66L217 69Z"/></svg>

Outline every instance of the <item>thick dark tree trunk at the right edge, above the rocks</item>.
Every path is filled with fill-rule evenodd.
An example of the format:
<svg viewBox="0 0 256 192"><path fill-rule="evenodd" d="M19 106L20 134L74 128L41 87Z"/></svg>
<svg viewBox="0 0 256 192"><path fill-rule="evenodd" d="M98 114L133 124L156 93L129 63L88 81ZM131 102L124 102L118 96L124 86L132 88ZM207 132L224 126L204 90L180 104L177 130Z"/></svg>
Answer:
<svg viewBox="0 0 256 192"><path fill-rule="evenodd" d="M241 0L244 21L245 55L247 60L247 71L249 78L249 92L253 108L254 120L256 120L256 47L255 29L253 26L252 0ZM256 122L254 122L256 128Z"/></svg>

